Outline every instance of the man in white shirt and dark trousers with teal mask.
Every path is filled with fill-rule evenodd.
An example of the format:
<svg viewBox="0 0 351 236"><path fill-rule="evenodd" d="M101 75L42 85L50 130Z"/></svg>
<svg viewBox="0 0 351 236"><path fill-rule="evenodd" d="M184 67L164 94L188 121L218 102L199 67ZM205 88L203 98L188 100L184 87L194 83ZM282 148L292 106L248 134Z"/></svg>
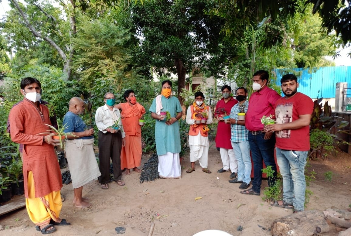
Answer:
<svg viewBox="0 0 351 236"><path fill-rule="evenodd" d="M96 126L99 129L99 168L101 176L99 182L102 189L108 189L110 183L110 158L113 165L114 181L123 186L121 170L121 150L126 144L125 133L121 122L121 113L114 104L116 99L112 92L104 96L104 106L100 106L95 113ZM116 127L115 127L115 126Z"/></svg>

